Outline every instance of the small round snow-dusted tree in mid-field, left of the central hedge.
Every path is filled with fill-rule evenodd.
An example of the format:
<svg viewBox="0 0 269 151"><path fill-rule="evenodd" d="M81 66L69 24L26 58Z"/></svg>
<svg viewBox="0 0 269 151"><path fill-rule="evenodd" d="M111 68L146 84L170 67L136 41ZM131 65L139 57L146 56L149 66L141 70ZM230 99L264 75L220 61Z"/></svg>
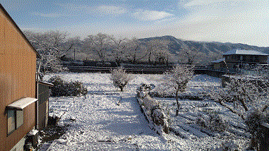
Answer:
<svg viewBox="0 0 269 151"><path fill-rule="evenodd" d="M120 67L115 68L111 71L110 80L113 81L113 85L115 87L119 87L120 91L123 91L125 85L127 85L127 83L132 80L132 76L126 73L126 71L122 67Z"/></svg>

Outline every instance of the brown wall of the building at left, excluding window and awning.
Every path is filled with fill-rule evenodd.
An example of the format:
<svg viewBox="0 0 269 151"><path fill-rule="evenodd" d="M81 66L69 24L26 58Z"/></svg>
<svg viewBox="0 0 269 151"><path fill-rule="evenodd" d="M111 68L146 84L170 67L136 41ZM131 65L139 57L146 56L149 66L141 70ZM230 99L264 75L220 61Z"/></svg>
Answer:
<svg viewBox="0 0 269 151"><path fill-rule="evenodd" d="M6 106L35 97L36 54L0 8L0 150L11 150L34 126L35 103L23 109L23 125L7 135Z"/></svg>

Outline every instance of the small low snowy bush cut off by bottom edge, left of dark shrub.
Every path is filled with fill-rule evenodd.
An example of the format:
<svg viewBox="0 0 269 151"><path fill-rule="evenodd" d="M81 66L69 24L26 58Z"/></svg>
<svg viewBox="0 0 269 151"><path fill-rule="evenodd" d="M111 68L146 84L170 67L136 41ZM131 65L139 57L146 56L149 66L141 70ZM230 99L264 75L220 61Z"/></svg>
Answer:
<svg viewBox="0 0 269 151"><path fill-rule="evenodd" d="M242 147L234 140L225 140L217 151L241 151Z"/></svg>

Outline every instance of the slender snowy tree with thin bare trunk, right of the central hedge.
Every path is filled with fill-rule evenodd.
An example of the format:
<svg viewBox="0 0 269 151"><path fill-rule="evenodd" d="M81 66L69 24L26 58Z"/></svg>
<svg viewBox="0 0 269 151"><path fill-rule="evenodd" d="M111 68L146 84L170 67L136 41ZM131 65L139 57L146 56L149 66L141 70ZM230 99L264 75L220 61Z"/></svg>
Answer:
<svg viewBox="0 0 269 151"><path fill-rule="evenodd" d="M178 93L183 92L188 82L193 78L193 66L176 65L171 71L164 73L166 83L176 91L176 116L178 116L179 102Z"/></svg>

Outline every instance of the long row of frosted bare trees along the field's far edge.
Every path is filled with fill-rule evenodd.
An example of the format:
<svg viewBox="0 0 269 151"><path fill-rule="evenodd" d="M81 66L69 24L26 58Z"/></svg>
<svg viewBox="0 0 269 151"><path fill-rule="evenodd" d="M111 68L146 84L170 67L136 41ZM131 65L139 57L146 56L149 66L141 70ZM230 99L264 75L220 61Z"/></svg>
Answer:
<svg viewBox="0 0 269 151"><path fill-rule="evenodd" d="M205 54L195 48L183 48L172 54L169 51L168 40L139 40L136 37L117 38L113 35L98 33L88 35L84 40L81 37L68 37L67 32L49 31L33 32L24 31L25 36L33 47L41 54L41 65L44 71L63 71L62 60L71 58L74 52L81 54L79 59L96 61L115 61L118 65L122 62L138 64L169 64L182 62L185 64L198 64L205 61ZM76 52L76 54L75 54ZM78 55L79 56L79 55ZM86 57L85 57L86 56ZM208 56L208 55L207 55ZM216 58L216 55L212 55Z"/></svg>

